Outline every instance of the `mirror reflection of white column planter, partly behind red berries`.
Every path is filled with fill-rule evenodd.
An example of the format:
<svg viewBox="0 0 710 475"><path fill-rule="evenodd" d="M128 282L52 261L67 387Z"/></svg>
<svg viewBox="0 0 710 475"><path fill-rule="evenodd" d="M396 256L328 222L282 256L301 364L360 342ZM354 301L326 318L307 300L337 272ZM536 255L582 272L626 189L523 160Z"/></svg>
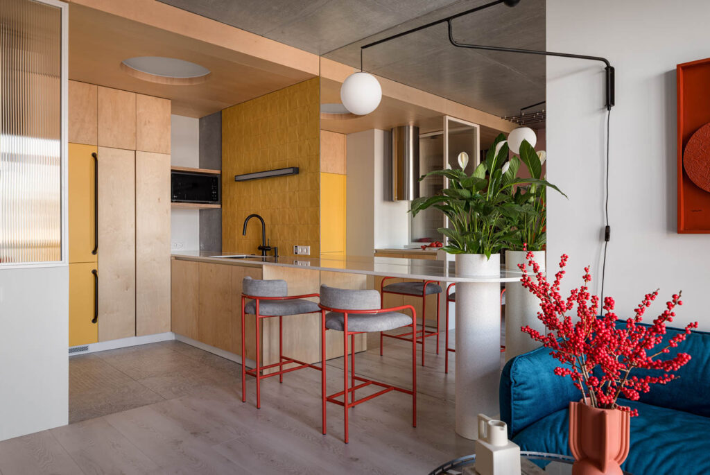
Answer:
<svg viewBox="0 0 710 475"><path fill-rule="evenodd" d="M518 264L528 263L527 251L506 251L506 271L520 271ZM545 251L532 251L540 270L545 271ZM532 269L528 266L528 271ZM537 318L540 300L523 288L520 282L506 283L506 361L527 353L540 346L530 335L520 331L521 327L530 326L545 334L545 325Z"/></svg>

